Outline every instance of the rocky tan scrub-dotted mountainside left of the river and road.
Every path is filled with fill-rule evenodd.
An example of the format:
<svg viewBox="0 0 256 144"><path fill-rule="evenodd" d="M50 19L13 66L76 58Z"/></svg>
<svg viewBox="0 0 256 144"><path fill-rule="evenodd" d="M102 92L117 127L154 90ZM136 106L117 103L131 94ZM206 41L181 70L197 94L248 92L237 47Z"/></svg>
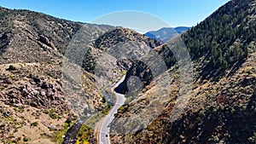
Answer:
<svg viewBox="0 0 256 144"><path fill-rule="evenodd" d="M131 66L114 53L117 43L141 43L147 49L160 45L122 27L28 10L0 7L0 19L0 143L61 142L85 112L85 103L91 111L107 107L101 90ZM83 40L79 36L86 48L70 50L76 40ZM130 47L122 48L120 53ZM80 55L84 49L88 51ZM144 51L137 49L141 55ZM73 77L73 72L79 75Z"/></svg>

